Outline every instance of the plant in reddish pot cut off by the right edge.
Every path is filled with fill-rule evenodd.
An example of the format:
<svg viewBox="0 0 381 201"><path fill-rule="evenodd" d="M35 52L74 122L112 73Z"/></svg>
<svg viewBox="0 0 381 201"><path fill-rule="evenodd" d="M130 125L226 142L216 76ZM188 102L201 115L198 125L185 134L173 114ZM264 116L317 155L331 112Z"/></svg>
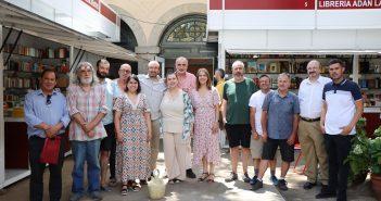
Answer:
<svg viewBox="0 0 381 201"><path fill-rule="evenodd" d="M376 197L381 200L381 126L374 130L374 136L369 140L370 181Z"/></svg>

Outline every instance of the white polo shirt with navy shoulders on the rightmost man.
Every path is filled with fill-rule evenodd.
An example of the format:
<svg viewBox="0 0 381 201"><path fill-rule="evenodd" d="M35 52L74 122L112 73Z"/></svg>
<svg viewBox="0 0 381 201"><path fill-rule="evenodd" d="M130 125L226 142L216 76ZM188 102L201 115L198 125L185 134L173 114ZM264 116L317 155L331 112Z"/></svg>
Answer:
<svg viewBox="0 0 381 201"><path fill-rule="evenodd" d="M339 135L342 133L340 127L347 126L356 113L355 101L361 101L363 97L356 83L343 79L340 84L328 83L322 90L322 99L327 103L326 133ZM356 127L350 135L355 133Z"/></svg>

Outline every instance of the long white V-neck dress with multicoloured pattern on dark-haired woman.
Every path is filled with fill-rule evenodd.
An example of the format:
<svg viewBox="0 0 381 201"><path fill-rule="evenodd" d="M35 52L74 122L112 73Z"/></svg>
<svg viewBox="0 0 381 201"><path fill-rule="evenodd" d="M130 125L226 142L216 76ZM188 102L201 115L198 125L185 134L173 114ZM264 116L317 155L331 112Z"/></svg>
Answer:
<svg viewBox="0 0 381 201"><path fill-rule="evenodd" d="M116 145L116 178L122 183L135 179L147 179L150 174L150 146L144 113L150 112L144 95L138 95L132 103L123 95L114 103L114 110L122 113L120 131L123 143Z"/></svg>

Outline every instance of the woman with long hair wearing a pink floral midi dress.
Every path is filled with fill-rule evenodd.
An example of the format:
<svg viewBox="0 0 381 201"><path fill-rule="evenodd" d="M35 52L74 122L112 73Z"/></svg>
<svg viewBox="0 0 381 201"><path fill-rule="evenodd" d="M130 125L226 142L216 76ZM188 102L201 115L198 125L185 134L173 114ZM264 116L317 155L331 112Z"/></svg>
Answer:
<svg viewBox="0 0 381 201"><path fill-rule="evenodd" d="M214 166L219 163L218 115L219 96L212 88L207 70L200 68L196 74L196 89L192 90L194 109L193 164L202 162L203 174L199 181L214 181Z"/></svg>

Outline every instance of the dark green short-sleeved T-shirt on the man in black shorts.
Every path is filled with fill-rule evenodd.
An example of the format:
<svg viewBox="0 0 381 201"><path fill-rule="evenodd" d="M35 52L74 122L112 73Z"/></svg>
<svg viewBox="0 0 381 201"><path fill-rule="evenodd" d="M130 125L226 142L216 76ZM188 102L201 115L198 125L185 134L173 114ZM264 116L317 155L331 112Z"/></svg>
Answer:
<svg viewBox="0 0 381 201"><path fill-rule="evenodd" d="M228 124L250 124L249 99L256 90L254 81L249 78L244 78L241 83L236 83L233 79L225 83L223 97L227 101Z"/></svg>

